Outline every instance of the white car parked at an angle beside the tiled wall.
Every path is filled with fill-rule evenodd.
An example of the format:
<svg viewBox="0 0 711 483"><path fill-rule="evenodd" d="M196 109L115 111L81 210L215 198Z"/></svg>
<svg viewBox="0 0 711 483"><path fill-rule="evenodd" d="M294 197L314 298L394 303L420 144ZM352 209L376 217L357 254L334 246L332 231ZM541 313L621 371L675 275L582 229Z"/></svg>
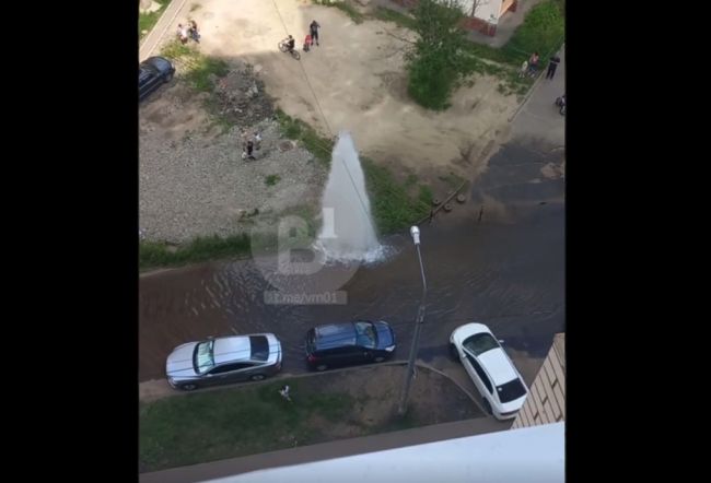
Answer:
<svg viewBox="0 0 711 483"><path fill-rule="evenodd" d="M457 327L450 335L450 349L481 393L485 409L497 420L515 417L528 388L489 328L483 323Z"/></svg>

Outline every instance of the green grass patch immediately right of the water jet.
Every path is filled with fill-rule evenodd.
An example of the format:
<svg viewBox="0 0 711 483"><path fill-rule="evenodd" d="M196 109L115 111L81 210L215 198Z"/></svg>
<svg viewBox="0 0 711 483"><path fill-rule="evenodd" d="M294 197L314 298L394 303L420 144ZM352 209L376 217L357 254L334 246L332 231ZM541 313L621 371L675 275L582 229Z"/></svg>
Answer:
<svg viewBox="0 0 711 483"><path fill-rule="evenodd" d="M411 193L412 182L400 184L385 166L376 165L368 157L361 157L365 186L368 188L373 219L382 235L398 232L427 216L432 207L432 190L419 186L416 196Z"/></svg>

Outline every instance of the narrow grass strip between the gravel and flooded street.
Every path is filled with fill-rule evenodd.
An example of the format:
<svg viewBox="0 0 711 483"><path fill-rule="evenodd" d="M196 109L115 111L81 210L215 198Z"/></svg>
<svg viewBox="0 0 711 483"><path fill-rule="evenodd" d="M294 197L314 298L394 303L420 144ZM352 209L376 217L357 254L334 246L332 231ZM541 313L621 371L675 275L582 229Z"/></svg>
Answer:
<svg viewBox="0 0 711 483"><path fill-rule="evenodd" d="M197 237L182 246L160 241L141 241L138 250L139 269L177 267L186 263L213 260L250 252L247 235Z"/></svg>

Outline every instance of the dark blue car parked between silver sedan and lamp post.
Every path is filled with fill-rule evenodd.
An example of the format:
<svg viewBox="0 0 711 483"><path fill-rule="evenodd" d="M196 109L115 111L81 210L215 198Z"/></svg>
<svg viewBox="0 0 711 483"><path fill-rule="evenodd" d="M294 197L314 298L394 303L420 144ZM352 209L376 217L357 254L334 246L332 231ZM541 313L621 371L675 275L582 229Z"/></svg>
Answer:
<svg viewBox="0 0 711 483"><path fill-rule="evenodd" d="M392 357L395 345L395 332L383 320L328 323L306 332L306 361L316 370L377 363Z"/></svg>

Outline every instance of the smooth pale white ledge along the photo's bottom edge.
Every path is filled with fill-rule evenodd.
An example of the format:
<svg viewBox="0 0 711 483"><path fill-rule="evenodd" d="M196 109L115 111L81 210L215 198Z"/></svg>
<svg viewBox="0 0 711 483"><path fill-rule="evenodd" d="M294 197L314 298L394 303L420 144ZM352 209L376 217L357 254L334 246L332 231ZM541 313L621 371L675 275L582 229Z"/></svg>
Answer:
<svg viewBox="0 0 711 483"><path fill-rule="evenodd" d="M306 447L307 448L307 447ZM209 480L290 482L564 483L566 424L500 431Z"/></svg>

